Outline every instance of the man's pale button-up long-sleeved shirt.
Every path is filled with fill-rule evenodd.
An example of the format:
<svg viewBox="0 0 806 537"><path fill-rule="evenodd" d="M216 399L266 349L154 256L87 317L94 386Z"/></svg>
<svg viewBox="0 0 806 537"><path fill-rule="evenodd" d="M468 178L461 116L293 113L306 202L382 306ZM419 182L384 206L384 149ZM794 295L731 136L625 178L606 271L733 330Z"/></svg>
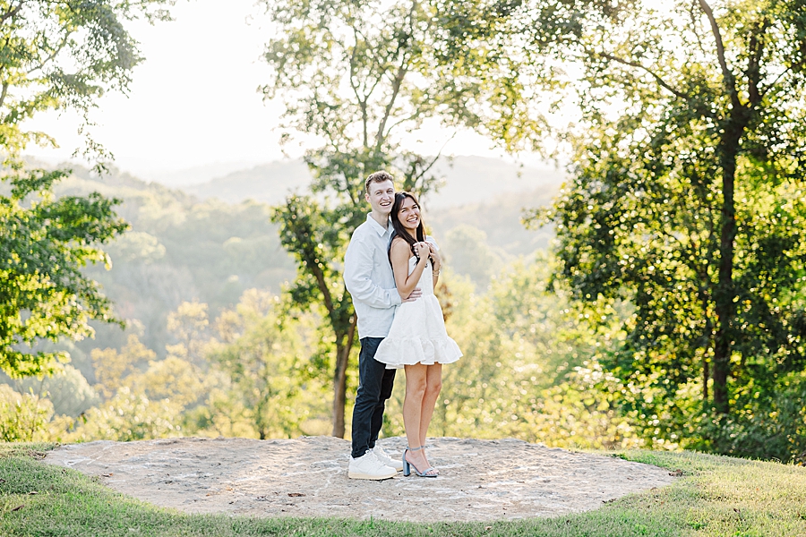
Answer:
<svg viewBox="0 0 806 537"><path fill-rule="evenodd" d="M372 214L356 227L344 256L344 284L358 316L358 338L387 337L401 303L389 262L392 226L378 224Z"/></svg>

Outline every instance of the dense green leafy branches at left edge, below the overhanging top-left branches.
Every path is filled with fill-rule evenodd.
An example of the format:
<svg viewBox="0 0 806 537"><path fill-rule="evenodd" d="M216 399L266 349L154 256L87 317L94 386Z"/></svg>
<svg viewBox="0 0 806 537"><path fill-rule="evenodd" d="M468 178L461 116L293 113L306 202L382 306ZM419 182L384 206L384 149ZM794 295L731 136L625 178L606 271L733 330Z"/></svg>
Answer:
<svg viewBox="0 0 806 537"><path fill-rule="evenodd" d="M13 378L54 371L58 352L21 350L40 339L92 335L90 320L111 320L110 303L81 268L109 264L100 245L127 228L119 200L98 193L55 199L63 172L34 171L12 179L0 197L0 369Z"/></svg>

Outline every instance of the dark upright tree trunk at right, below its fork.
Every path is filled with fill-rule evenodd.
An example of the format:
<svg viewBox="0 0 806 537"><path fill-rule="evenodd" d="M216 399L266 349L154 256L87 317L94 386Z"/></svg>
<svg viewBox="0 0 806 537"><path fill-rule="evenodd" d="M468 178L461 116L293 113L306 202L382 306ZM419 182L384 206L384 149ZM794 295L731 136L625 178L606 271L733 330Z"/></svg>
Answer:
<svg viewBox="0 0 806 537"><path fill-rule="evenodd" d="M727 379L731 373L731 352L734 312L733 243L736 238L736 208L733 187L736 175L736 154L744 124L731 122L725 129L722 144L722 234L719 241L719 280L716 284L716 338L714 341L714 408L716 413L730 412Z"/></svg>

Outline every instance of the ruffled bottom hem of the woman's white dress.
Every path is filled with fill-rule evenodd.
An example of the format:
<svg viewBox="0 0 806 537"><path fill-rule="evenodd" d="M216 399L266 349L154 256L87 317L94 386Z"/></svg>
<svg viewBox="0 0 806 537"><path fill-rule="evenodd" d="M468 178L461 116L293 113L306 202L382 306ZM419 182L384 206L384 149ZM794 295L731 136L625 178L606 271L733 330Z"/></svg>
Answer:
<svg viewBox="0 0 806 537"><path fill-rule="evenodd" d="M378 346L375 360L386 369L401 369L404 365L433 365L453 363L462 357L459 345L450 337L386 337Z"/></svg>

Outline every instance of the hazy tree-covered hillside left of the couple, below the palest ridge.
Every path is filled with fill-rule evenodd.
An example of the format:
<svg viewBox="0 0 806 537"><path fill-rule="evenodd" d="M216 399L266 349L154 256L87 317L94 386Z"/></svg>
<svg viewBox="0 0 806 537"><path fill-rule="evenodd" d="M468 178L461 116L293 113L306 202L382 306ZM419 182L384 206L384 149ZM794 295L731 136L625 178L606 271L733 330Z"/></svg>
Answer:
<svg viewBox="0 0 806 537"><path fill-rule="evenodd" d="M270 223L265 205L200 202L115 169L99 177L77 167L56 193L95 190L124 200L119 212L132 230L108 244L114 262L110 270L89 268L86 274L104 287L130 329L97 327L94 341L78 344L86 354L94 348L121 348L134 334L164 357L166 346L176 343L167 317L181 303L208 304L214 318L246 289L279 293L282 283L294 277L294 261L282 250L278 226ZM92 378L91 367L81 371Z"/></svg>

